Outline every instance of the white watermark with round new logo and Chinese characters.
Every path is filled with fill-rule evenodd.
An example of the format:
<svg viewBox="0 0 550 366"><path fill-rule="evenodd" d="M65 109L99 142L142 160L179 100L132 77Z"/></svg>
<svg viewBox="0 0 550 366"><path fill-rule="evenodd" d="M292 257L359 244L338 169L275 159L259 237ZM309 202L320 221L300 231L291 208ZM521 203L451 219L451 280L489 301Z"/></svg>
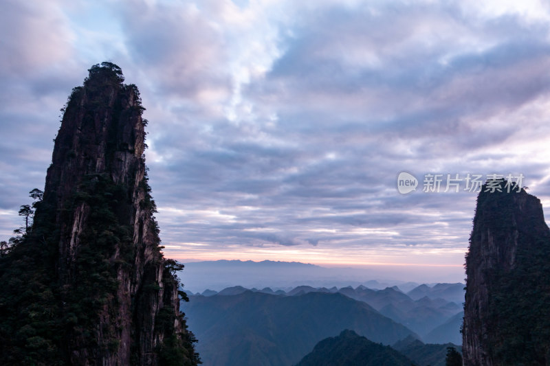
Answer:
<svg viewBox="0 0 550 366"><path fill-rule="evenodd" d="M472 174L454 173L439 174L426 173L422 176L422 192L473 192L479 193L483 185L483 192L521 192L523 174ZM419 179L409 172L400 172L397 175L397 191L408 194L417 190ZM527 189L527 187L523 187Z"/></svg>

